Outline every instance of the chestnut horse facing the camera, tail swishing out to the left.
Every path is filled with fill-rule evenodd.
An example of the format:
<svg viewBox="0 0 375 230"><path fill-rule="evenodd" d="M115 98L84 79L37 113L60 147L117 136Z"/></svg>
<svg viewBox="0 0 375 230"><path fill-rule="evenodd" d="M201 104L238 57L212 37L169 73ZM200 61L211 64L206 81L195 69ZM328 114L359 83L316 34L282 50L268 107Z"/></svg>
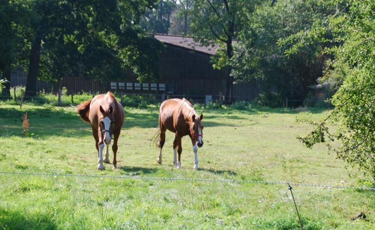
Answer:
<svg viewBox="0 0 375 230"><path fill-rule="evenodd" d="M96 150L98 150L98 169L105 169L103 161L105 163L110 163L109 145L111 144L112 138L112 163L113 168L117 168L117 141L124 123L124 108L116 101L111 92L98 95L89 101L81 103L77 107L81 119L91 125ZM107 146L107 151L105 152L105 159L103 160L104 143Z"/></svg>

